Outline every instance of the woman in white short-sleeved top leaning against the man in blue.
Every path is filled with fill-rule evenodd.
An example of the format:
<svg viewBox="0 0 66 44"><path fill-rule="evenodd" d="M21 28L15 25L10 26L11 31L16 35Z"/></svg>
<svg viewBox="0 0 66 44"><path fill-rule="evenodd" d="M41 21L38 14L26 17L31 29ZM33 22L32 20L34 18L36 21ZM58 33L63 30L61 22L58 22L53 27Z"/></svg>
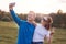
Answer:
<svg viewBox="0 0 66 44"><path fill-rule="evenodd" d="M34 35L33 35L33 42L32 44L43 44L44 38L47 40L47 43L51 44L51 24L52 24L52 19L48 16L44 16L41 20L41 24L36 24Z"/></svg>

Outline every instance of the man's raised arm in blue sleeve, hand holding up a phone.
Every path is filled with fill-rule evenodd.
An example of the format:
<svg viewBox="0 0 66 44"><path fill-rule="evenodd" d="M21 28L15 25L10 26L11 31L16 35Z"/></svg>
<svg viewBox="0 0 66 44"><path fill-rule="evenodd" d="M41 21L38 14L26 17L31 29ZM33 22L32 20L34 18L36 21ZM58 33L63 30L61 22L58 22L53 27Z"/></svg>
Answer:
<svg viewBox="0 0 66 44"><path fill-rule="evenodd" d="M21 23L21 19L16 15L16 13L13 11L13 7L15 6L15 3L10 3L9 4L9 10L10 10L10 13L13 18L13 20L18 23L18 25L20 25Z"/></svg>

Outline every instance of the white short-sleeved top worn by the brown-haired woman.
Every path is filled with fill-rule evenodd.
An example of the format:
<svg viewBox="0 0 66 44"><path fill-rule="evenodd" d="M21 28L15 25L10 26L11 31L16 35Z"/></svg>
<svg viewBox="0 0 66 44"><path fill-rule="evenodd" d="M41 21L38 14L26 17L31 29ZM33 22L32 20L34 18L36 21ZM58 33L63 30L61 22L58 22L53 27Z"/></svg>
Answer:
<svg viewBox="0 0 66 44"><path fill-rule="evenodd" d="M50 37L50 32L42 26L42 24L37 24L33 35L33 42L44 42L44 37Z"/></svg>

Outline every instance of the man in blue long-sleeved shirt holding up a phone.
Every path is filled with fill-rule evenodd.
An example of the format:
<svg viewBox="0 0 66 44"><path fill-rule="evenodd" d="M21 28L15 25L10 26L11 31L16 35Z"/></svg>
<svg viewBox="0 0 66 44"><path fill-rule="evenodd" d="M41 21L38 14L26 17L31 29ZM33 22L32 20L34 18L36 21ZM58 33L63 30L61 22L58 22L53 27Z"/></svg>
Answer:
<svg viewBox="0 0 66 44"><path fill-rule="evenodd" d="M10 3L9 10L13 20L19 25L16 44L32 44L31 42L33 40L33 33L35 30L35 25L34 25L35 13L33 11L30 11L28 14L28 21L21 20L13 10L14 6L15 3Z"/></svg>

